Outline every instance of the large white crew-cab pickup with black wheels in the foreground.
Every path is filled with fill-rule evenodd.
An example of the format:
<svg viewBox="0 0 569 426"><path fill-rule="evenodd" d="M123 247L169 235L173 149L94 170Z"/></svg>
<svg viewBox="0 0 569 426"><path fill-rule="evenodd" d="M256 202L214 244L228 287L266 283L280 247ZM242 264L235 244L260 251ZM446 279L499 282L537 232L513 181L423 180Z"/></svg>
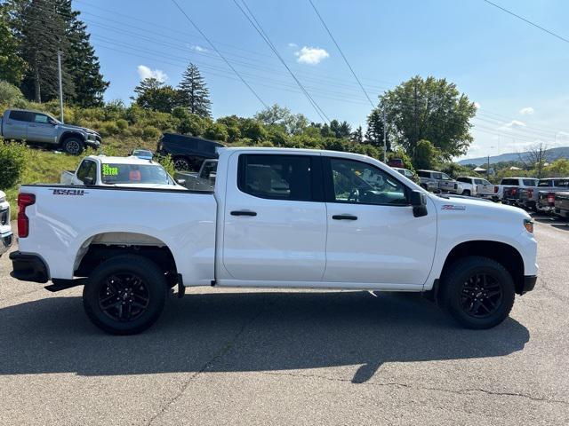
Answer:
<svg viewBox="0 0 569 426"><path fill-rule="evenodd" d="M488 328L537 280L525 211L428 193L358 154L224 148L214 192L22 185L19 205L12 276L84 285L114 334L152 325L176 285L427 292Z"/></svg>

